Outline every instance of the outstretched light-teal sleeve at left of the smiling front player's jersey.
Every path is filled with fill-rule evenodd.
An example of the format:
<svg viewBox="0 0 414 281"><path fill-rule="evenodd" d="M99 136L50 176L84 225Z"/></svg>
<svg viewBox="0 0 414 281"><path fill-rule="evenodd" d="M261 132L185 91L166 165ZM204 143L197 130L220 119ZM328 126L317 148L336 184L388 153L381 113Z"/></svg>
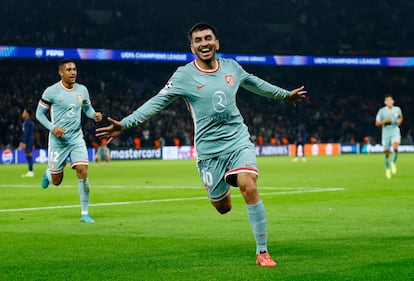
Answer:
<svg viewBox="0 0 414 281"><path fill-rule="evenodd" d="M167 84L158 94L146 101L127 117L121 120L122 127L129 129L145 122L151 116L160 112L163 108L170 105L174 100L181 97L183 92L182 71L180 68L171 76Z"/></svg>

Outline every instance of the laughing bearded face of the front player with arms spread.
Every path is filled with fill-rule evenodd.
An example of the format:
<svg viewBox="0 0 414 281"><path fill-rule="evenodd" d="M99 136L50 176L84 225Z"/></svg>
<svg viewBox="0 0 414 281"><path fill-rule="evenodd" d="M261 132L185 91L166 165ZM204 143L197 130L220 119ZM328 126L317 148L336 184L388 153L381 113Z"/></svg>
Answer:
<svg viewBox="0 0 414 281"><path fill-rule="evenodd" d="M191 35L191 51L199 61L210 63L216 59L219 41L210 29L195 31Z"/></svg>

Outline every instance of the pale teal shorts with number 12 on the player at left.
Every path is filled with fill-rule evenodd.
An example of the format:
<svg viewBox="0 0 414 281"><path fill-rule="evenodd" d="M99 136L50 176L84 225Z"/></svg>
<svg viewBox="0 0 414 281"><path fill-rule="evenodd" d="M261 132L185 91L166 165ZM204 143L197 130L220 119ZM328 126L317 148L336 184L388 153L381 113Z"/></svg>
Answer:
<svg viewBox="0 0 414 281"><path fill-rule="evenodd" d="M79 139L71 143L63 143L53 138L49 141L49 171L51 174L58 174L63 171L66 159L70 158L72 168L77 165L89 165L88 150L85 140Z"/></svg>

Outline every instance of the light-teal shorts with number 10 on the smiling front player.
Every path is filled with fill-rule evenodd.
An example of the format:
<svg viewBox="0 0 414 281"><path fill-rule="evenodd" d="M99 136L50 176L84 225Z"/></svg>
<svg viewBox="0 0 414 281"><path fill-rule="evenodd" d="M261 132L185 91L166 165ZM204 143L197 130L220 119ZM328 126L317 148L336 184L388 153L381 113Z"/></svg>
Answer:
<svg viewBox="0 0 414 281"><path fill-rule="evenodd" d="M198 171L211 201L223 200L230 193L230 186L237 187L237 174L259 175L254 146L206 160L197 161Z"/></svg>

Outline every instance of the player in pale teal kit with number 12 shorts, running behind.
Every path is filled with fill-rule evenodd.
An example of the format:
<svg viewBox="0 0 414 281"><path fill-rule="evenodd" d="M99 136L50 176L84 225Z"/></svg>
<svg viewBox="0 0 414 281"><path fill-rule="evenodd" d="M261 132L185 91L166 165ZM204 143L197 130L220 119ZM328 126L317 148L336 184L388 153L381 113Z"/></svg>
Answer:
<svg viewBox="0 0 414 281"><path fill-rule="evenodd" d="M52 182L58 186L63 180L66 159L70 157L72 169L78 177L78 192L81 201L81 222L95 222L89 215L88 152L81 129L81 112L96 122L102 114L95 112L89 99L88 89L76 83L77 68L71 59L59 63L61 80L43 92L36 110L36 118L49 130L48 168L41 186L47 188ZM50 111L51 120L46 116Z"/></svg>

